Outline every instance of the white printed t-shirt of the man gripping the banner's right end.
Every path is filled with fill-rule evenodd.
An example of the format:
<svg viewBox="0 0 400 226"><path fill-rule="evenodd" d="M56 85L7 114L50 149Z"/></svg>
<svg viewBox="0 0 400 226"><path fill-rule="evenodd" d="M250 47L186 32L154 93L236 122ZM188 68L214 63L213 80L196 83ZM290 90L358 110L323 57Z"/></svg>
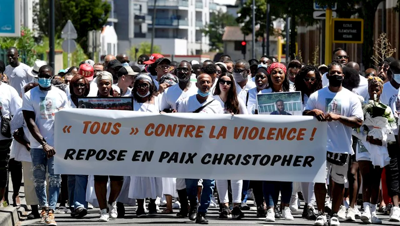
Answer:
<svg viewBox="0 0 400 226"><path fill-rule="evenodd" d="M308 98L306 110L319 109L342 116L364 120L361 102L358 96L346 88L339 92L332 92L329 87L322 88ZM326 150L333 153L354 154L352 148L352 128L339 121L328 122L328 137Z"/></svg>

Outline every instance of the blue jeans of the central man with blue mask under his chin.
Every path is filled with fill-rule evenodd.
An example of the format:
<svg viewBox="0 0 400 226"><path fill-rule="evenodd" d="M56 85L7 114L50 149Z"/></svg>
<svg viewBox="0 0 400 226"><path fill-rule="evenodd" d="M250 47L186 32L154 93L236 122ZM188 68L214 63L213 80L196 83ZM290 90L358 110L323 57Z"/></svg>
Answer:
<svg viewBox="0 0 400 226"><path fill-rule="evenodd" d="M190 203L197 203L197 182L199 179L185 179L186 192ZM215 180L203 179L203 190L200 197L199 213L206 213L210 206L211 197L214 192Z"/></svg>

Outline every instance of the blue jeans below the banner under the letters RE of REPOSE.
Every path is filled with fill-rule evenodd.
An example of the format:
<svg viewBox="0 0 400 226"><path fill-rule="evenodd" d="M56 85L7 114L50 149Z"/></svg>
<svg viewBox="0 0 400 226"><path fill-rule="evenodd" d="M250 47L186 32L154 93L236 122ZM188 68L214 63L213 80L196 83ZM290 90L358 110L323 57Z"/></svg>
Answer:
<svg viewBox="0 0 400 226"><path fill-rule="evenodd" d="M68 202L75 210L79 207L88 208L86 186L88 186L88 175L68 175Z"/></svg>

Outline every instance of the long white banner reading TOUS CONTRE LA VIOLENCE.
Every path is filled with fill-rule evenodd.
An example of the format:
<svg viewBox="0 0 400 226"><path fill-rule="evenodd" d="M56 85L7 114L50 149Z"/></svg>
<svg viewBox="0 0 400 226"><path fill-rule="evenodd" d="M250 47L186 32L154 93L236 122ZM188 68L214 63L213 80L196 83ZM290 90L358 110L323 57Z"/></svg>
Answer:
<svg viewBox="0 0 400 226"><path fill-rule="evenodd" d="M325 182L326 123L311 116L63 109L56 174Z"/></svg>

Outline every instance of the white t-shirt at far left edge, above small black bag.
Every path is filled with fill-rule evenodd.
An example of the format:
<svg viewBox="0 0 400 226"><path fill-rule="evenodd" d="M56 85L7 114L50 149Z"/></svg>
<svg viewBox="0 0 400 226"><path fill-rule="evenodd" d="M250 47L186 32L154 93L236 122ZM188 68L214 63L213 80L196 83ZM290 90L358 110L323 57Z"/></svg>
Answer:
<svg viewBox="0 0 400 226"><path fill-rule="evenodd" d="M14 88L9 86L8 84L1 82L1 84L0 84L0 110L1 110L3 117L11 119L11 116L16 114L18 109L20 109L21 107L22 107L22 99L20 98L20 95L18 94L18 92ZM0 122L1 122L1 119L0 119ZM12 132L14 132L14 131L12 131ZM0 140L8 140L11 138L5 137L2 134L0 134Z"/></svg>

